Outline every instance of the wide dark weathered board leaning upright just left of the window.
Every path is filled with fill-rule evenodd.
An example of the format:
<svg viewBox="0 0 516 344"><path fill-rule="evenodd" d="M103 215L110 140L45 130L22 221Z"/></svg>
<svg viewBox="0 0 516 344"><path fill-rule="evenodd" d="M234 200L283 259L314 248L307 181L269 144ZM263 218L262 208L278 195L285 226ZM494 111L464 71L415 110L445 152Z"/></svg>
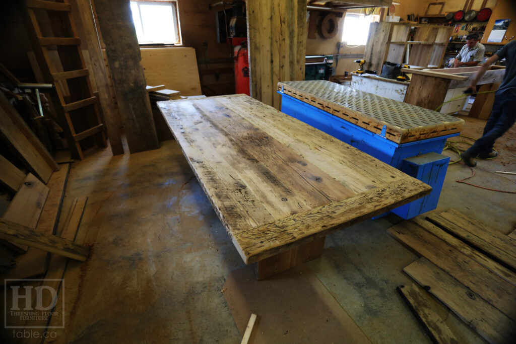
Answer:
<svg viewBox="0 0 516 344"><path fill-rule="evenodd" d="M95 0L118 106L131 153L159 148L131 7L124 0Z"/></svg>

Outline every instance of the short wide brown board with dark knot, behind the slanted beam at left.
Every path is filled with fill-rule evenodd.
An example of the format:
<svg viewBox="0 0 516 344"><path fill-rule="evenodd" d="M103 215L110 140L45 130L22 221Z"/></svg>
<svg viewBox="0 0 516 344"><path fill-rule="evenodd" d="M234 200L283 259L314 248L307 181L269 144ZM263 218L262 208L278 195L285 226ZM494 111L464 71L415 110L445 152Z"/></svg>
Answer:
<svg viewBox="0 0 516 344"><path fill-rule="evenodd" d="M32 173L27 174L2 218L29 228L36 228L48 194L49 188L45 184ZM13 245L14 247L9 246L17 252L25 253L28 249L26 245Z"/></svg>

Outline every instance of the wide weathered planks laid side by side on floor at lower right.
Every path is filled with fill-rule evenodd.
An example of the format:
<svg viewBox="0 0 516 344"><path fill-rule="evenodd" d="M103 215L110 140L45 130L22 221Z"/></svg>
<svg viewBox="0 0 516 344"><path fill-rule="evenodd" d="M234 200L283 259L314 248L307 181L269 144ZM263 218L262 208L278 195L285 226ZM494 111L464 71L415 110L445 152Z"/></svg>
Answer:
<svg viewBox="0 0 516 344"><path fill-rule="evenodd" d="M516 240L454 209L430 212L387 232L422 256L403 269L414 281L488 342L513 342Z"/></svg>

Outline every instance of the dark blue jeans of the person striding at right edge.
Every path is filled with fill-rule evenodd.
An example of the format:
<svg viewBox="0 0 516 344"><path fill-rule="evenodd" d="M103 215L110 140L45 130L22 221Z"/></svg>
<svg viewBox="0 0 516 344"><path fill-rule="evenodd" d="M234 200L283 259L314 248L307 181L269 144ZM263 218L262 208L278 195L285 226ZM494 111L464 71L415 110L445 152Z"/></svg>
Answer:
<svg viewBox="0 0 516 344"><path fill-rule="evenodd" d="M511 92L496 94L493 110L489 117L482 137L466 151L472 158L478 154L489 154L493 151L494 141L510 129L516 122L516 97Z"/></svg>

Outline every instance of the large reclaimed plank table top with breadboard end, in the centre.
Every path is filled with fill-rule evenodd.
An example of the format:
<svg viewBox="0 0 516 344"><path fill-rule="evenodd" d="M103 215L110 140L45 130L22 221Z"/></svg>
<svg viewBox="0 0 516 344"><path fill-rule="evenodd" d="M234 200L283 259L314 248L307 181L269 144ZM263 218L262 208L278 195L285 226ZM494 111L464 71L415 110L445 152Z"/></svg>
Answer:
<svg viewBox="0 0 516 344"><path fill-rule="evenodd" d="M246 264L431 191L247 95L157 105Z"/></svg>

